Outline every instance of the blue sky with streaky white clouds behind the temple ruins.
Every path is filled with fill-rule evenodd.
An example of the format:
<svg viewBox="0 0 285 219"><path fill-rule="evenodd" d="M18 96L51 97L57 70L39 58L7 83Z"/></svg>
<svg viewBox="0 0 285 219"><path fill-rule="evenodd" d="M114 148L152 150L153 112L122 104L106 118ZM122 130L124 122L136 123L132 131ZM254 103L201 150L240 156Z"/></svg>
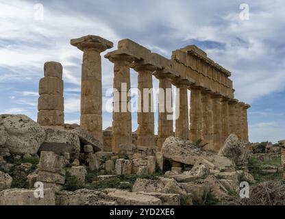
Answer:
<svg viewBox="0 0 285 219"><path fill-rule="evenodd" d="M249 20L240 18L242 3ZM236 98L252 105L250 140L285 139L284 11L282 0L0 0L0 114L36 120L43 64L56 61L64 66L66 123L78 123L82 53L69 41L93 34L115 47L130 38L165 57L196 44L232 72ZM103 58L102 68L106 92L113 66ZM132 72L134 88L136 79ZM105 110L103 127L111 123Z"/></svg>

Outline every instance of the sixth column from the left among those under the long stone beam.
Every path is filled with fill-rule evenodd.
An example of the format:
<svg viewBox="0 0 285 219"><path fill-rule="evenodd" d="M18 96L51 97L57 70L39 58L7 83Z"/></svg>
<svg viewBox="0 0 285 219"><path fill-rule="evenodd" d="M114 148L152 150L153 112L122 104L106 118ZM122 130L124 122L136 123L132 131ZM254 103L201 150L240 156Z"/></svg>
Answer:
<svg viewBox="0 0 285 219"><path fill-rule="evenodd" d="M210 149L213 144L213 112L212 112L212 99L210 90L202 90L202 103L203 103L203 144L207 144L205 149Z"/></svg>

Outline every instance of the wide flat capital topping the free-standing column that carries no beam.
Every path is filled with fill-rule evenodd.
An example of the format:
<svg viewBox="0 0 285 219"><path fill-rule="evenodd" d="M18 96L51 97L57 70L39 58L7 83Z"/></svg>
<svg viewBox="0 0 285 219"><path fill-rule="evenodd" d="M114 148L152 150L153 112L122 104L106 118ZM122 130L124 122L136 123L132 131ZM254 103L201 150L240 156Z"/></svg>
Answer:
<svg viewBox="0 0 285 219"><path fill-rule="evenodd" d="M109 40L94 35L82 36L81 38L72 39L71 45L77 47L81 51L94 49L99 53L106 51L106 49L111 49L114 46L114 44Z"/></svg>

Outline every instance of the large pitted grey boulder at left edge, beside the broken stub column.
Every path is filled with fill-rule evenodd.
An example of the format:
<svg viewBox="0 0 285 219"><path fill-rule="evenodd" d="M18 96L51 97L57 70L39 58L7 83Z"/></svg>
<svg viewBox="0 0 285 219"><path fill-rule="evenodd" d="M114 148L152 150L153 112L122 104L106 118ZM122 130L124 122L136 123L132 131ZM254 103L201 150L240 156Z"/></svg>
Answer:
<svg viewBox="0 0 285 219"><path fill-rule="evenodd" d="M0 123L5 129L5 148L16 155L36 155L45 140L45 130L24 115L1 115Z"/></svg>

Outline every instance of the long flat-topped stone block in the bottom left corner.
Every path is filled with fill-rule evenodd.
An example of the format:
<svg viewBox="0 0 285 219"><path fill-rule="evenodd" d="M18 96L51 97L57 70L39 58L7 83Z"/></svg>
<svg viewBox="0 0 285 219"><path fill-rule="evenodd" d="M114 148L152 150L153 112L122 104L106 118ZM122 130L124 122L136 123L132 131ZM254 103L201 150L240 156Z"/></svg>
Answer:
<svg viewBox="0 0 285 219"><path fill-rule="evenodd" d="M12 189L0 192L0 205L55 205L55 192L44 189L45 198L36 198L35 190Z"/></svg>

